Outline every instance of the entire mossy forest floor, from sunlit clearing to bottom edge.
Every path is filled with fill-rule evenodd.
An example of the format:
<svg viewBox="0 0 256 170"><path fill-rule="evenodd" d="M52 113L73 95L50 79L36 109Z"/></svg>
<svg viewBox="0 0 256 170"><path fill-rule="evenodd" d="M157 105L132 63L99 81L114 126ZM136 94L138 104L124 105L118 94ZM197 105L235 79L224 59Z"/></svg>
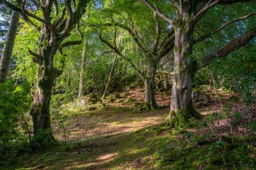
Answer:
<svg viewBox="0 0 256 170"><path fill-rule="evenodd" d="M235 143L224 140L224 147L214 134L198 132L203 127L170 129L164 124L169 112L167 104L166 108L162 105L159 110L142 112L133 110L132 103L104 107L106 110L100 107L93 111L70 110L65 113L64 122L67 143L63 143L60 125L53 123L54 136L61 141L58 146L20 153L2 162L0 169L253 169L255 166L255 136L238 136Z"/></svg>

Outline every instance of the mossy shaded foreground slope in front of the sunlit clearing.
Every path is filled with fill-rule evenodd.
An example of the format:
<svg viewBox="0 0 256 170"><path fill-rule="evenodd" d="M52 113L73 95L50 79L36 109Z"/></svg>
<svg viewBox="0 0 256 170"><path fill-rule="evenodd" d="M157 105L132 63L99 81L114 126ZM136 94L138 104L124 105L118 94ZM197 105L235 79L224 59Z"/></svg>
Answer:
<svg viewBox="0 0 256 170"><path fill-rule="evenodd" d="M56 148L9 160L3 169L253 169L255 152L252 136L235 138L230 143L228 137L220 141L209 134L171 131L159 124L124 134L60 143ZM101 164L102 155L107 159Z"/></svg>

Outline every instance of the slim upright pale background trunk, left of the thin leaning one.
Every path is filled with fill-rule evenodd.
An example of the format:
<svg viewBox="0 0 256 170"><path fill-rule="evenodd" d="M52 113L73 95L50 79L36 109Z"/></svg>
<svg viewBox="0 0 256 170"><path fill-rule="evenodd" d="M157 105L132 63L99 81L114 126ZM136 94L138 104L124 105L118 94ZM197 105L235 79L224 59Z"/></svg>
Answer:
<svg viewBox="0 0 256 170"><path fill-rule="evenodd" d="M84 93L84 69L86 67L86 41L83 43L82 61L81 61L81 71L79 80L78 97L83 96Z"/></svg>

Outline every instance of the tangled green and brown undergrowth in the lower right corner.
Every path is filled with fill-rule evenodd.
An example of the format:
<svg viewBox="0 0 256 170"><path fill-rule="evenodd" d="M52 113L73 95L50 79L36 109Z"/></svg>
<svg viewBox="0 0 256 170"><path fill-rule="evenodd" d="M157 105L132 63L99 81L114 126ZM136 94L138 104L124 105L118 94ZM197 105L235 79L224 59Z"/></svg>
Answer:
<svg viewBox="0 0 256 170"><path fill-rule="evenodd" d="M244 125L250 131L248 135L234 135L242 119L243 114L230 114L225 106L223 113L209 114L202 121L191 119L186 128L173 129L170 141L159 145L155 153L160 159L157 169L255 168L255 123ZM219 126L221 121L227 124L224 130Z"/></svg>

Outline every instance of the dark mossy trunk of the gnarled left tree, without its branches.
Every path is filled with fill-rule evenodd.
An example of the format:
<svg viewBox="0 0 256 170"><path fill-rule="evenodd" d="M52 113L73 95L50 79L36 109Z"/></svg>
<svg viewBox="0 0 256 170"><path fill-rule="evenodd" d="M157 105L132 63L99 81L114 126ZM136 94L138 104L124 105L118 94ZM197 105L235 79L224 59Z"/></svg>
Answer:
<svg viewBox="0 0 256 170"><path fill-rule="evenodd" d="M45 29L43 29L43 32ZM42 38L46 33L42 34ZM33 96L33 106L30 114L33 118L34 136L36 137L38 132L40 138L33 138L34 143L40 143L44 145L42 141L42 135L47 142L55 142L56 140L52 136L51 130L51 118L50 118L50 102L52 87L54 80L60 76L61 71L54 69L53 59L56 51L58 50L60 43L56 41L56 35L52 36L51 45L39 46L39 55L35 58L38 63L38 80L36 82L35 94ZM43 132L44 134L40 134Z"/></svg>

